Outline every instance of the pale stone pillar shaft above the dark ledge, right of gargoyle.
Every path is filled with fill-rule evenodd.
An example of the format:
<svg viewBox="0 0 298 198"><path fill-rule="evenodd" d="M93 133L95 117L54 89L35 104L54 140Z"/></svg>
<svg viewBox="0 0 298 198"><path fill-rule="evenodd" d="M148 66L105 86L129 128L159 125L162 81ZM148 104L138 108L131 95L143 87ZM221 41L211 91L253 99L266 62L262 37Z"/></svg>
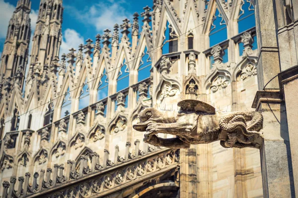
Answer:
<svg viewBox="0 0 298 198"><path fill-rule="evenodd" d="M275 25L276 5L273 0L255 0L256 31L259 59L257 62L258 86L264 86L280 72L277 28ZM273 79L266 90L279 89L278 79Z"/></svg>

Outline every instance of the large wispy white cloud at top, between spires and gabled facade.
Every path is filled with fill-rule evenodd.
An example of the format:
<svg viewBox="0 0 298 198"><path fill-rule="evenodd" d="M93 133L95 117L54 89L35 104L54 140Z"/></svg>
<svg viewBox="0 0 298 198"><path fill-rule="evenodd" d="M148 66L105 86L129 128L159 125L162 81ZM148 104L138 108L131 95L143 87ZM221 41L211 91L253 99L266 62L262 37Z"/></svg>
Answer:
<svg viewBox="0 0 298 198"><path fill-rule="evenodd" d="M108 2L93 4L86 7L83 11L77 10L75 7L66 5L66 11L73 14L78 20L95 26L96 31L103 31L106 28L112 30L114 25L122 24L125 18L131 18L132 14L126 11L122 6L123 0L108 0Z"/></svg>

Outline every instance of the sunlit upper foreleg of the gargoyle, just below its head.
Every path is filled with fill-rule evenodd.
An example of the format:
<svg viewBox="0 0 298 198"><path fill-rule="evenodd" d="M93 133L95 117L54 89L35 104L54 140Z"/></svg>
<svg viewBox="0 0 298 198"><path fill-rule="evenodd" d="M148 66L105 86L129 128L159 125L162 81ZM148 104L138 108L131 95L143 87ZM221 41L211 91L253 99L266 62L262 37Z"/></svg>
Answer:
<svg viewBox="0 0 298 198"><path fill-rule="evenodd" d="M197 128L197 123L150 123L146 129L146 135L165 133L170 135L181 135L191 133Z"/></svg>

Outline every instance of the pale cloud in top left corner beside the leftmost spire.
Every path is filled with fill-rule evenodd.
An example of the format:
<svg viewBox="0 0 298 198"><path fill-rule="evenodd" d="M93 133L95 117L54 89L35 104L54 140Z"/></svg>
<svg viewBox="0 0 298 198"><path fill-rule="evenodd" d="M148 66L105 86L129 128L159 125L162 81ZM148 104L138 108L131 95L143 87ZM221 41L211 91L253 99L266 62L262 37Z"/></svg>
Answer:
<svg viewBox="0 0 298 198"><path fill-rule="evenodd" d="M0 0L0 38L5 38L9 20L15 7L4 0Z"/></svg>

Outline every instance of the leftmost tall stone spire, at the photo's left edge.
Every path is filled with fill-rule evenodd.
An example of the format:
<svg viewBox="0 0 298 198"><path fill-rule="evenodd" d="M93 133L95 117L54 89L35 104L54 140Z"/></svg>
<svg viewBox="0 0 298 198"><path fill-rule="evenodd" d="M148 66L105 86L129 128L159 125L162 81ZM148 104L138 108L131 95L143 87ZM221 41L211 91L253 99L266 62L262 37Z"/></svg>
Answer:
<svg viewBox="0 0 298 198"><path fill-rule="evenodd" d="M13 78L17 71L25 73L31 35L30 10L30 0L18 0L9 21L0 63L0 73L5 79ZM19 79L20 87L23 87L23 81L23 78Z"/></svg>

